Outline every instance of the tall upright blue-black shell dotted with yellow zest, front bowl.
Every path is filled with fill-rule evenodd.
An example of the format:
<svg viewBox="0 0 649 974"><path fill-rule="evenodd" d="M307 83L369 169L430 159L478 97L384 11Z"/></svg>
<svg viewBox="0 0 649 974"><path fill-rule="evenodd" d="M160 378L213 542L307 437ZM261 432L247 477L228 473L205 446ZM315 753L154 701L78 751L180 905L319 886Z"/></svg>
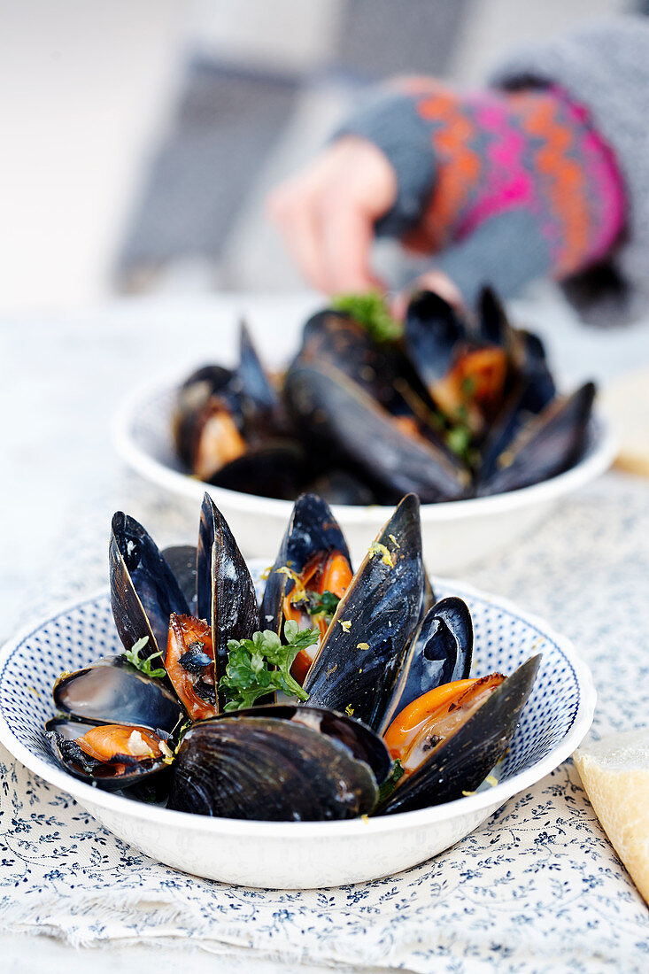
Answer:
<svg viewBox="0 0 649 974"><path fill-rule="evenodd" d="M420 618L424 576L419 501L410 494L370 545L338 603L304 682L310 704L385 730Z"/></svg>

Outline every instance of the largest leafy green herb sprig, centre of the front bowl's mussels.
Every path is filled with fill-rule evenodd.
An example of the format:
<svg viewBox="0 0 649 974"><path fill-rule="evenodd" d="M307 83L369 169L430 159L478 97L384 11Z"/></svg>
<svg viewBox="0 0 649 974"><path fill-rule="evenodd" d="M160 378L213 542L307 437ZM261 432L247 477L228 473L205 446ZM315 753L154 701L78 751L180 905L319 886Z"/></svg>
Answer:
<svg viewBox="0 0 649 974"><path fill-rule="evenodd" d="M252 633L251 639L228 640L225 676L218 683L227 699L226 711L245 710L257 697L278 690L308 700L309 694L290 675L290 667L300 650L318 642L320 631L300 629L290 619L285 624L284 635L286 645L270 629Z"/></svg>

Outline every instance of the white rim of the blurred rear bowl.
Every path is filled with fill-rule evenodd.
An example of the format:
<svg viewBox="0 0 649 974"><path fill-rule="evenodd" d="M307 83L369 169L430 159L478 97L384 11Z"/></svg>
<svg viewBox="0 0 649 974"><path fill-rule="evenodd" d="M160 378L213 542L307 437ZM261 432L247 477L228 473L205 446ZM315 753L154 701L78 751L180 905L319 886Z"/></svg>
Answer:
<svg viewBox="0 0 649 974"><path fill-rule="evenodd" d="M182 378L185 377L183 373ZM254 511L257 515L279 516L287 521L293 501L282 501L277 498L262 497L259 494L244 494L241 491L216 487L189 473L169 467L134 441L132 429L137 413L153 396L169 393L172 389L178 388L182 378L178 377L177 372L168 373L164 378L158 376L141 384L125 396L113 413L110 424L111 438L118 456L144 479L172 494L182 495L200 503L205 492L208 491L218 506L243 514ZM487 517L490 514L544 504L590 483L612 465L617 453L617 439L611 424L606 422L599 409L594 411L593 419L595 441L592 449L574 467L548 480L507 493L459 501L440 501L437 504L422 504L420 507L422 523ZM383 524L394 510L394 505L332 504L330 506L334 516L346 524Z"/></svg>

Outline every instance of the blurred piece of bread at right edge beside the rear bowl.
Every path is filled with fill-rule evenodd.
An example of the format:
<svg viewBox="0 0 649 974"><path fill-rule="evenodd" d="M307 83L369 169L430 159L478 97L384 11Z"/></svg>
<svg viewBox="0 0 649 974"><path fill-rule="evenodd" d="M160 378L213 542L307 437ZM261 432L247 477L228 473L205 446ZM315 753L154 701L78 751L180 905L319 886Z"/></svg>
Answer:
<svg viewBox="0 0 649 974"><path fill-rule="evenodd" d="M620 444L615 466L649 477L649 367L606 386L602 406Z"/></svg>

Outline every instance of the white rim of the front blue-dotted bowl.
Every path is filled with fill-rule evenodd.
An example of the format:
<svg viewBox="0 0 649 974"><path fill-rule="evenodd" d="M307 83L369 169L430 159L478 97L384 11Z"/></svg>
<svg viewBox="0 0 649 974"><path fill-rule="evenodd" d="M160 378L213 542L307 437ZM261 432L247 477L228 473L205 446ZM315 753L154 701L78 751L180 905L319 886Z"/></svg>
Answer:
<svg viewBox="0 0 649 974"><path fill-rule="evenodd" d="M175 826L176 828L190 832L212 830L214 834L220 836L239 836L240 838L249 839L282 839L288 837L294 837L295 839L342 839L355 836L390 835L401 832L403 829L409 830L429 826L437 822L459 818L465 814L469 815L478 812L488 814L490 809L504 805L505 802L514 797L518 792L536 784L546 774L549 774L554 768L562 764L579 747L591 728L594 715L596 691L592 680L592 673L572 641L557 633L552 626L548 625L545 619L519 609L514 602L511 602L507 598L484 592L474 585L437 576L434 576L432 581L433 584L437 583L442 587L452 588L454 592L457 592L457 594L463 597L476 598L486 602L492 605L494 609L501 609L510 616L515 616L515 618L524 621L526 624L540 629L548 639L557 645L570 662L580 691L575 721L567 734L555 745L553 750L541 758L540 761L535 762L530 768L524 768L516 772L511 778L499 782L487 791L477 792L475 795L456 799L454 802L445 802L441 805L431 805L428 808L420 808L416 811L402 811L393 815L377 816L376 818L360 817L333 822L248 821L246 819L195 815L191 812L175 811L156 805L146 805L145 803L136 802L121 795L103 791L94 785L86 784L72 777L72 775L68 774L62 768L51 766L42 758L33 754L14 734L14 731L10 728L1 711L0 743L15 758L18 758L19 762L25 768L38 774L66 794L71 795L72 798L85 807L95 805L108 814L127 815L142 823L158 824L162 827ZM100 588L89 595L58 605L46 615L21 628L13 638L8 640L0 648L0 684L7 670L10 656L24 639L33 635L38 629L53 619L69 613L73 609L77 609L79 606L85 605L88 602L93 602L99 597L107 596L109 596L109 590L105 587Z"/></svg>

